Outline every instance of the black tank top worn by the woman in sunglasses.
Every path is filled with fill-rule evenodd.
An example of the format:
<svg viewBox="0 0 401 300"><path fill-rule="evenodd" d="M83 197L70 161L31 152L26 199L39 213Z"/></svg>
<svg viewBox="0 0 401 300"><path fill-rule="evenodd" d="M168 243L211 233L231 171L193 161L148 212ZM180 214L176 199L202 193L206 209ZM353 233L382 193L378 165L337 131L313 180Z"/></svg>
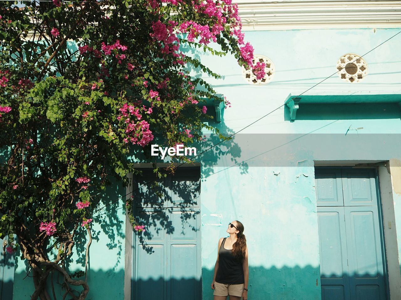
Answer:
<svg viewBox="0 0 401 300"><path fill-rule="evenodd" d="M219 249L219 269L217 270L216 282L222 284L242 284L244 283L242 263L235 259L232 250L224 248L226 239L223 239Z"/></svg>

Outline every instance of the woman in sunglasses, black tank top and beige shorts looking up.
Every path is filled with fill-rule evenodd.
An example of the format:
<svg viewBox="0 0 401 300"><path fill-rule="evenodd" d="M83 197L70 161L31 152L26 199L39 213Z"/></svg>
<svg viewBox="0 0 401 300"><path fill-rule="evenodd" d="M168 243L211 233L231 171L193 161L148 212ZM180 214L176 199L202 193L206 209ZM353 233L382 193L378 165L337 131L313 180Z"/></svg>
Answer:
<svg viewBox="0 0 401 300"><path fill-rule="evenodd" d="M239 221L228 224L228 238L221 238L217 247L215 275L211 284L214 300L248 299L248 248L244 226Z"/></svg>

